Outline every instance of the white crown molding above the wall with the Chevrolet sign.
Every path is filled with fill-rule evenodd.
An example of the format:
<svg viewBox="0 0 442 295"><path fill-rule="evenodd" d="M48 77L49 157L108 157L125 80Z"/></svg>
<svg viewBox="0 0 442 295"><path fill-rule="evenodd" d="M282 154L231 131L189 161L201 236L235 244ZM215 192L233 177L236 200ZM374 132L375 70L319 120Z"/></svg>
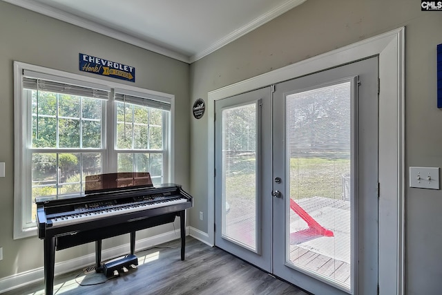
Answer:
<svg viewBox="0 0 442 295"><path fill-rule="evenodd" d="M2 0L2 1L11 3L15 6L20 6L21 8L32 10L34 12L38 12L41 15L46 15L47 17L52 17L60 21L65 21L66 23L70 23L75 26L79 26L81 28L97 32L99 34L111 37L113 39L117 39L119 41L124 41L128 44L132 44L134 46L153 51L154 53L159 53L160 55L164 55L166 57L171 57L179 61L184 61L185 63L189 64L189 57L186 55L182 55L180 53L176 53L173 50L169 50L167 48L157 46L150 42L143 41L142 39L133 37L131 35L127 35L126 33L120 32L119 30L114 30L106 26L102 26L93 21L82 19L81 17L77 17L76 15L72 15L68 12L64 12L57 8L52 8L50 6L45 6L41 3L29 0Z"/></svg>

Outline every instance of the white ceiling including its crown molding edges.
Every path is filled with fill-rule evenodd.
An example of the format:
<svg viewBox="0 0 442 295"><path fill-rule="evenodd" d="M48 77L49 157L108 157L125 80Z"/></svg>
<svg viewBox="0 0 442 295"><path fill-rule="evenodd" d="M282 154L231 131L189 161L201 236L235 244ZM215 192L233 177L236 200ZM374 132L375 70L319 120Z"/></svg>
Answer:
<svg viewBox="0 0 442 295"><path fill-rule="evenodd" d="M306 0L3 0L191 63Z"/></svg>

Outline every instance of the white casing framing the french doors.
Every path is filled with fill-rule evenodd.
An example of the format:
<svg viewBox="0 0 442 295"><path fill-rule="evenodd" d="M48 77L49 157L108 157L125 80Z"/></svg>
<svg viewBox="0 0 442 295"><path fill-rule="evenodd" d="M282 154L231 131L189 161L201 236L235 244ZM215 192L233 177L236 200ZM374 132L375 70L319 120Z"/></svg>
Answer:
<svg viewBox="0 0 442 295"><path fill-rule="evenodd" d="M404 294L405 27L208 94L208 235L214 245L214 102L366 57L379 56L379 294ZM391 259L396 257L396 259ZM392 274L396 274L392 276Z"/></svg>

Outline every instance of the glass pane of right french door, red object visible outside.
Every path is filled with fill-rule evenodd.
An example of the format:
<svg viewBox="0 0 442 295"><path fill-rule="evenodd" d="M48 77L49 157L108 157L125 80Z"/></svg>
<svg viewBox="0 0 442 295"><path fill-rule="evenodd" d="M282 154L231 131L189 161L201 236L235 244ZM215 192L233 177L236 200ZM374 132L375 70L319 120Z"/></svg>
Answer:
<svg viewBox="0 0 442 295"><path fill-rule="evenodd" d="M352 289L351 85L286 96L286 264Z"/></svg>

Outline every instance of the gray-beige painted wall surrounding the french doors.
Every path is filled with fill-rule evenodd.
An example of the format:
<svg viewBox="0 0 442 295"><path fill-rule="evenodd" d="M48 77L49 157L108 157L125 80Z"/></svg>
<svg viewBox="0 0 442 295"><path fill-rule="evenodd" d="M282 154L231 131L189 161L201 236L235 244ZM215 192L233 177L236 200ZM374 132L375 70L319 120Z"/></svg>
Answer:
<svg viewBox="0 0 442 295"><path fill-rule="evenodd" d="M442 166L436 45L442 12L416 0L308 0L191 65L191 102L215 89L406 26L406 165ZM207 232L207 115L191 120L191 226ZM408 186L408 181L407 181ZM407 188L406 291L440 294L442 192ZM393 275L393 274L392 274Z"/></svg>

